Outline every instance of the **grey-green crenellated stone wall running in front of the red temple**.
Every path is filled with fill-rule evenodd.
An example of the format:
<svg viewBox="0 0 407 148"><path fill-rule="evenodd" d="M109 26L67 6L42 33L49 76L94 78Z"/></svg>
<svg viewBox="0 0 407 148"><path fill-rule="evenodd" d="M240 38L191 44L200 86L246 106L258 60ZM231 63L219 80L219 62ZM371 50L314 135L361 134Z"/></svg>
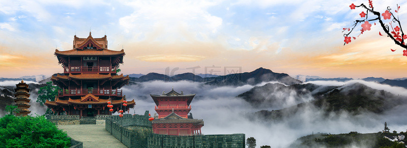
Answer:
<svg viewBox="0 0 407 148"><path fill-rule="evenodd" d="M106 118L105 129L127 147L245 147L245 134L172 136L154 134L144 115L111 116Z"/></svg>

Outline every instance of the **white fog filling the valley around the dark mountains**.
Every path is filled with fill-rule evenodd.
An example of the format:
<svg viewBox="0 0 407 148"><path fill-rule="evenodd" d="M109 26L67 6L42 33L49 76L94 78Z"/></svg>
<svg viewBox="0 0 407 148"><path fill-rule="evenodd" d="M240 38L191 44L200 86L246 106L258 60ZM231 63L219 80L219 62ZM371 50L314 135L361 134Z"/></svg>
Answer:
<svg viewBox="0 0 407 148"><path fill-rule="evenodd" d="M406 92L403 88L360 80L343 84L339 82L326 82L324 86L344 86L356 82L374 89L384 89L395 94L404 95L403 92ZM322 82L307 83L322 84ZM203 119L205 121L205 126L202 127L203 134L244 133L246 138L256 138L258 146L287 147L297 138L312 132L331 134L348 133L350 131L358 131L360 133L379 132L382 131L384 122L388 123L392 131L400 132L407 129L407 121L400 118L407 113L405 109L407 106L404 105L397 106L383 115L362 113L358 116L351 116L342 112L340 114L331 114L328 117L323 116L325 113L321 110L308 106L302 112L281 122L264 122L248 120L246 117L247 113L254 113L264 108L253 107L243 99L235 97L254 87L250 85L214 87L187 81L153 81L125 86L122 89L128 100L134 99L136 101L135 112L131 109L130 114L144 114L145 110L149 110L153 115L155 113L155 103L149 94L161 94L162 91L169 92L172 87L177 92L183 91L184 94L196 93L196 97L191 103L191 113L194 119ZM271 109L269 108L269 110Z"/></svg>

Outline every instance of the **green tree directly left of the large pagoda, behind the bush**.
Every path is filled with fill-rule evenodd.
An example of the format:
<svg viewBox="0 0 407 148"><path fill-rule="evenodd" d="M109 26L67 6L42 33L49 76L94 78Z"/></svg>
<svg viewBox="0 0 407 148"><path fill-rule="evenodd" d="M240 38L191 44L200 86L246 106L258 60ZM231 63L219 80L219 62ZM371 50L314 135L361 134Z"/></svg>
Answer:
<svg viewBox="0 0 407 148"><path fill-rule="evenodd" d="M47 82L46 86L41 87L38 91L38 98L37 102L41 105L44 105L45 101L55 101L55 96L58 95L58 91L62 91L62 89L58 86L52 85L52 82ZM54 114L51 109L47 108L45 113L46 115Z"/></svg>

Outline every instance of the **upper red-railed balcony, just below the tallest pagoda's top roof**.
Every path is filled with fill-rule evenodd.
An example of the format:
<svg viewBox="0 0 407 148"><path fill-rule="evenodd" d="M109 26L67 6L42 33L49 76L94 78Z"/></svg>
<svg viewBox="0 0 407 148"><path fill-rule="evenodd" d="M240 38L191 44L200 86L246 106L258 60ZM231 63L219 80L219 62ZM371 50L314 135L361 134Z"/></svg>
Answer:
<svg viewBox="0 0 407 148"><path fill-rule="evenodd" d="M116 69L109 66L64 66L64 73L116 73Z"/></svg>

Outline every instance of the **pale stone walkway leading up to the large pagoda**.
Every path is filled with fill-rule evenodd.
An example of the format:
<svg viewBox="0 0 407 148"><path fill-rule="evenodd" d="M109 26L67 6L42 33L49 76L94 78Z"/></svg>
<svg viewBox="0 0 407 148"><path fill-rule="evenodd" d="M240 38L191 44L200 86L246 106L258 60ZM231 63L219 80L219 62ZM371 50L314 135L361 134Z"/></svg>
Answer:
<svg viewBox="0 0 407 148"><path fill-rule="evenodd" d="M83 147L126 147L105 130L105 125L57 125Z"/></svg>

